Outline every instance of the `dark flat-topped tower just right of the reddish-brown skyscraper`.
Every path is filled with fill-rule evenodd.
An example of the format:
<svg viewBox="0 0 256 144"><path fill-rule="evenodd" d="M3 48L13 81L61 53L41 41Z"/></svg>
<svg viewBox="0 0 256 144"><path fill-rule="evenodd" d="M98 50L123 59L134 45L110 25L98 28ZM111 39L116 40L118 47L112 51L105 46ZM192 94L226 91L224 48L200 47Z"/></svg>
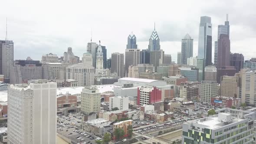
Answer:
<svg viewBox="0 0 256 144"><path fill-rule="evenodd" d="M243 69L243 54L240 53L230 53L230 66L234 66L236 72L239 72L240 69Z"/></svg>

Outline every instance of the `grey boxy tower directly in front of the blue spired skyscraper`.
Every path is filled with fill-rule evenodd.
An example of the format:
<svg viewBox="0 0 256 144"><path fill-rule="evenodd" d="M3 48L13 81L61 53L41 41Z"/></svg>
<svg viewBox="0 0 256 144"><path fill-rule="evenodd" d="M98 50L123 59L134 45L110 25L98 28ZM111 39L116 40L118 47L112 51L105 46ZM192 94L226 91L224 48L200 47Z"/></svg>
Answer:
<svg viewBox="0 0 256 144"><path fill-rule="evenodd" d="M154 66L155 72L157 72L157 67L159 64L164 63L164 51L150 51L150 64Z"/></svg>

